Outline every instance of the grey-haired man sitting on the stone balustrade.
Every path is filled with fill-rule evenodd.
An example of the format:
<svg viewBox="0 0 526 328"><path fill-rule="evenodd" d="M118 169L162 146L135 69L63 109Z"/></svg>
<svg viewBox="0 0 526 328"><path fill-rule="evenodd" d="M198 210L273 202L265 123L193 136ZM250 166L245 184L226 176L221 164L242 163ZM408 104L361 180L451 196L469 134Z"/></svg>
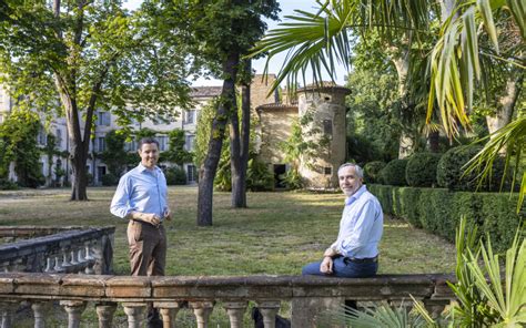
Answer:
<svg viewBox="0 0 526 328"><path fill-rule="evenodd" d="M378 243L384 215L378 199L363 184L363 170L345 163L337 171L340 187L347 196L340 233L322 262L307 264L303 275L371 277L378 270Z"/></svg>

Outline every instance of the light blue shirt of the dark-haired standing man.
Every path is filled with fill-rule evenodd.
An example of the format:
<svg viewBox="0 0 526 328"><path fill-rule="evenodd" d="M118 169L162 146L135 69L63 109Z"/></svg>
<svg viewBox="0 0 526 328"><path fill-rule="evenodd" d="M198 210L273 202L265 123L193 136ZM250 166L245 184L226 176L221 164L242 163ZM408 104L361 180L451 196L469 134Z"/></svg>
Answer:
<svg viewBox="0 0 526 328"><path fill-rule="evenodd" d="M111 214L125 217L130 212L154 213L161 221L168 209L166 178L161 168L148 170L139 164L119 181L113 199Z"/></svg>

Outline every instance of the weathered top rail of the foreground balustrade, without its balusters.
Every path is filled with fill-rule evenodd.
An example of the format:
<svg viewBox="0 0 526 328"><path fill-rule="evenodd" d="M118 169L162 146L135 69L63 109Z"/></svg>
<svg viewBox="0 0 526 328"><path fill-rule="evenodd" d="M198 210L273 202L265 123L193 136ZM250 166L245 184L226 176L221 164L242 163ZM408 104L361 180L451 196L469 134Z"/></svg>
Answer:
<svg viewBox="0 0 526 328"><path fill-rule="evenodd" d="M361 300L455 298L451 275L385 275L373 278L314 276L172 276L0 274L0 298L95 301L251 300L345 297Z"/></svg>

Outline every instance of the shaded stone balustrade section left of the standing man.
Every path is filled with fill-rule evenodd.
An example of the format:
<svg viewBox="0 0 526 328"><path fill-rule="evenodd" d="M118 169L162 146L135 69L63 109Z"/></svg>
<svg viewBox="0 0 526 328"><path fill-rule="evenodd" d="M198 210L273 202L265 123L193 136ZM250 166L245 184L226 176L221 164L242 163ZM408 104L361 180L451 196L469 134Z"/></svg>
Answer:
<svg viewBox="0 0 526 328"><path fill-rule="evenodd" d="M111 274L114 227L2 227L0 236L24 237L0 245L0 271Z"/></svg>

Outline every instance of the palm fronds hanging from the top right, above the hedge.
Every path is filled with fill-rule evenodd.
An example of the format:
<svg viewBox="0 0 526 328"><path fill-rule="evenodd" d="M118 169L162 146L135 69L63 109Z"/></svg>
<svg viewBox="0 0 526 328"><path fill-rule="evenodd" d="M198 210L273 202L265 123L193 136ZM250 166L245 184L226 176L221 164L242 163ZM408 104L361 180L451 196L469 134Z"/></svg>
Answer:
<svg viewBox="0 0 526 328"><path fill-rule="evenodd" d="M317 3L316 13L296 10L254 49L254 54L267 53L267 60L287 51L274 88L283 81L290 88L297 85L300 78L305 81L307 69L312 70L315 83L322 80L323 71L334 76L336 62L348 69L350 33L365 34L375 30L386 41L407 35L408 42L417 43L429 40L426 39L429 24L439 23L438 39L433 40L433 49L427 54L431 79L427 121L437 112L443 131L453 137L459 133L459 126L469 127L475 86L477 83L485 86L483 82L487 82L482 79L484 58L513 65L522 74L526 71L526 7L522 0L317 0ZM502 49L502 34L513 34L517 42ZM482 47L486 44L483 39L489 48ZM508 160L517 161L515 167L518 167L524 156L520 150L526 145L524 114L519 113L508 124L513 126L495 132L492 140L500 140L500 143L487 144L474 158L471 170L479 171L481 177L486 176L493 160L503 150ZM506 147L507 144L514 146ZM526 193L526 173L522 181L519 206Z"/></svg>

